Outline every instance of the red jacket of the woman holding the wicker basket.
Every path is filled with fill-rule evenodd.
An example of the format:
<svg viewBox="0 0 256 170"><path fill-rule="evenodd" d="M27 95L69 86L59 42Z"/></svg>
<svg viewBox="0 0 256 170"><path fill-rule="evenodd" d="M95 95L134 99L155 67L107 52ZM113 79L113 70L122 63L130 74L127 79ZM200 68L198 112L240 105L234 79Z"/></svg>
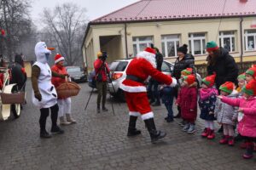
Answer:
<svg viewBox="0 0 256 170"><path fill-rule="evenodd" d="M51 67L51 71L55 71L56 73L59 73L59 74L67 74L67 71L66 71L66 68L64 66L61 66L61 65L53 65ZM59 87L61 85L61 83L64 83L66 80L61 78L61 77L52 77L51 78L51 82L52 84L55 86L55 88ZM62 99L62 98L59 98L58 99Z"/></svg>

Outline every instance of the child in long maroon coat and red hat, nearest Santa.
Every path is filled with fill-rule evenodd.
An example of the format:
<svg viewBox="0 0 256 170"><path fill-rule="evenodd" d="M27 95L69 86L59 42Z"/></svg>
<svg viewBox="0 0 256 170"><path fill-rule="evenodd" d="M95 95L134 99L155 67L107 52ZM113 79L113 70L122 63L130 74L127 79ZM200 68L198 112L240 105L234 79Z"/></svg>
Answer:
<svg viewBox="0 0 256 170"><path fill-rule="evenodd" d="M197 83L195 75L183 77L183 84L177 96L176 104L181 108L181 116L185 125L183 131L195 133L195 120L197 115Z"/></svg>

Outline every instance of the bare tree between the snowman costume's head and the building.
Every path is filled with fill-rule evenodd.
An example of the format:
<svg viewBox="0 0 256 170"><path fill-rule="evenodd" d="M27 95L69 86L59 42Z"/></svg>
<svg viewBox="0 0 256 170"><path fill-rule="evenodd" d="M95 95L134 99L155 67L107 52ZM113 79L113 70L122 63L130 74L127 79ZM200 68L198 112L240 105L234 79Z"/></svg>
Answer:
<svg viewBox="0 0 256 170"><path fill-rule="evenodd" d="M54 10L44 8L44 30L54 37L55 42L50 43L55 43L57 52L66 57L67 65L81 64L80 47L86 27L85 12L85 8L79 8L74 3L57 5Z"/></svg>

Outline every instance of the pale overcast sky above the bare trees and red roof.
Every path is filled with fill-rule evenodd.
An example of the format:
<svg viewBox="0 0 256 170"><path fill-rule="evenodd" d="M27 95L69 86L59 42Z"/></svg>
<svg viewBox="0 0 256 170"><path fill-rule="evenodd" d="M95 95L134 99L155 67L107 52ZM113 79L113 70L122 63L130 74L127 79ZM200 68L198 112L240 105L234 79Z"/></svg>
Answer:
<svg viewBox="0 0 256 170"><path fill-rule="evenodd" d="M86 8L86 15L89 20L94 20L104 14L113 12L116 9L123 8L126 5L135 3L138 0L32 0L32 20L38 25L44 8L54 8L56 4L72 2L78 4L81 8Z"/></svg>

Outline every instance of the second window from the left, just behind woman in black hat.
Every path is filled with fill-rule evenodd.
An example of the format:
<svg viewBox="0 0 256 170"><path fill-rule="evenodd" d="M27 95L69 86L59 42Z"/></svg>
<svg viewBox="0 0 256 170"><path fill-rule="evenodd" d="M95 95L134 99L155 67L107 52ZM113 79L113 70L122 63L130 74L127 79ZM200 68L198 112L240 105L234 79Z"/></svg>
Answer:
<svg viewBox="0 0 256 170"><path fill-rule="evenodd" d="M179 35L166 35L161 37L162 54L165 57L177 56L177 48L179 47Z"/></svg>

